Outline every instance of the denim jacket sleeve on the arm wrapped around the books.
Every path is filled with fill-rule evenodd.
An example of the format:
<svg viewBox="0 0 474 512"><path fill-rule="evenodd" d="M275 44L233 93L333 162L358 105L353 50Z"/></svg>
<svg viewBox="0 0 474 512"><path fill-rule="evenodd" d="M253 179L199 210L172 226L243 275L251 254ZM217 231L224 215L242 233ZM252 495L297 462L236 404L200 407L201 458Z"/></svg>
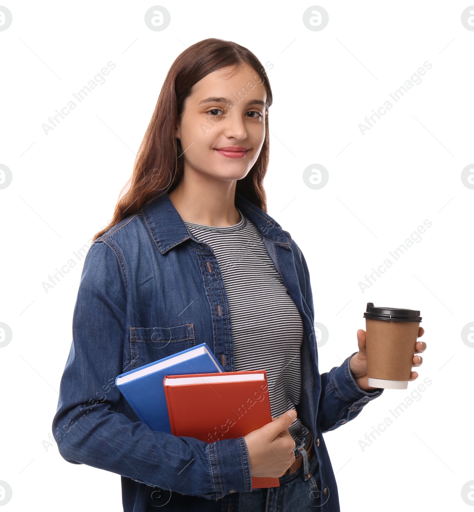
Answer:
<svg viewBox="0 0 474 512"><path fill-rule="evenodd" d="M208 444L152 431L119 412L122 395L115 377L122 373L126 309L121 254L113 242L94 242L84 260L72 345L53 419L61 456L73 464L207 499L221 498L231 489L250 492L243 437Z"/></svg>

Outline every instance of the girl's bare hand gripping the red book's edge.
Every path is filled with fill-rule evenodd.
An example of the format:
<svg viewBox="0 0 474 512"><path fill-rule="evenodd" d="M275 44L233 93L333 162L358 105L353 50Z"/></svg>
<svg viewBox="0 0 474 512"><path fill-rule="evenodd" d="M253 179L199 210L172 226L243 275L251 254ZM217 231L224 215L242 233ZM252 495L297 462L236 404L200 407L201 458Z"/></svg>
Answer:
<svg viewBox="0 0 474 512"><path fill-rule="evenodd" d="M281 477L294 462L295 442L288 427L296 414L294 409L290 409L244 436L252 477Z"/></svg>

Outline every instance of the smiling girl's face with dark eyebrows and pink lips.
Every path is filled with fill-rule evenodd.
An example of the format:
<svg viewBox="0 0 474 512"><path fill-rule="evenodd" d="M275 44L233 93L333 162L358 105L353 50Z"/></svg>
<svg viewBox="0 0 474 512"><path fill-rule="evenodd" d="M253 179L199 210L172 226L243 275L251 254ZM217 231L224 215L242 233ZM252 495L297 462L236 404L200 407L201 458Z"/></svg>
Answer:
<svg viewBox="0 0 474 512"><path fill-rule="evenodd" d="M181 140L184 173L240 180L260 154L265 139L267 91L261 77L245 64L209 73L185 101L176 137Z"/></svg>

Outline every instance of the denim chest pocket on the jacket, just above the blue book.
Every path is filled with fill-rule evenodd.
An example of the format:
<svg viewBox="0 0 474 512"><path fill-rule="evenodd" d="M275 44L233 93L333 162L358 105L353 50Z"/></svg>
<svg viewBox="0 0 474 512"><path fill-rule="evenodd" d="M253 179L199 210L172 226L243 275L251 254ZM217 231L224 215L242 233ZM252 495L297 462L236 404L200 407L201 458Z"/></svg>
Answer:
<svg viewBox="0 0 474 512"><path fill-rule="evenodd" d="M131 327L131 370L195 345L193 324L176 327Z"/></svg>

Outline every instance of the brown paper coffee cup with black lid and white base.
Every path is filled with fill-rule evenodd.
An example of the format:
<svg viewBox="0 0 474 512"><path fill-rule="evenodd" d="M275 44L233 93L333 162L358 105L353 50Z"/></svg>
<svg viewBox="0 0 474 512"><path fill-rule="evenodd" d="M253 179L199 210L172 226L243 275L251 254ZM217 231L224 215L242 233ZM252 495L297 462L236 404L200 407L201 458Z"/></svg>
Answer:
<svg viewBox="0 0 474 512"><path fill-rule="evenodd" d="M406 389L421 316L414 309L374 307L364 312L367 376L372 388Z"/></svg>

